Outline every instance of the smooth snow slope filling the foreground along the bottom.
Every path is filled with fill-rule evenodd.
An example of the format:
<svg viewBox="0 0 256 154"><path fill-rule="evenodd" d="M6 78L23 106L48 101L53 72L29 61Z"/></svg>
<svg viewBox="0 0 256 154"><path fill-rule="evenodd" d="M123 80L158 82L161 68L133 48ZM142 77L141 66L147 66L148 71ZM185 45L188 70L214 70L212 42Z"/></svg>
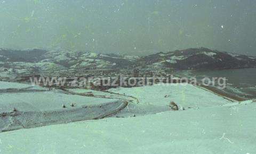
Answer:
<svg viewBox="0 0 256 154"><path fill-rule="evenodd" d="M0 133L2 153L255 153L255 103Z"/></svg>

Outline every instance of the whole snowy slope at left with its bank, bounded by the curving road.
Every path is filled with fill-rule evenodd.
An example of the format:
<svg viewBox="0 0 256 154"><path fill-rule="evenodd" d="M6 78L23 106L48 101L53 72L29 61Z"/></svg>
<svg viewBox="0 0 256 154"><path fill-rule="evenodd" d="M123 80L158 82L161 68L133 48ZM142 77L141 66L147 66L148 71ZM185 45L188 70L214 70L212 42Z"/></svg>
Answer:
<svg viewBox="0 0 256 154"><path fill-rule="evenodd" d="M0 82L0 132L103 118L127 106L115 99Z"/></svg>

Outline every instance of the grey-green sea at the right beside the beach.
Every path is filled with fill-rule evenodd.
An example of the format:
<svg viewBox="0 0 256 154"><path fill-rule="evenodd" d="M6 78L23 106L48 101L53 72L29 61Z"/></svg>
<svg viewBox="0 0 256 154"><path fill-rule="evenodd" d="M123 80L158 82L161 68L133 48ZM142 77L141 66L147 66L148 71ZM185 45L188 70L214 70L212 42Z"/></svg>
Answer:
<svg viewBox="0 0 256 154"><path fill-rule="evenodd" d="M184 70L176 71L179 77L226 78L226 86L222 90L248 99L256 98L256 68L228 70ZM213 86L217 86L216 84Z"/></svg>

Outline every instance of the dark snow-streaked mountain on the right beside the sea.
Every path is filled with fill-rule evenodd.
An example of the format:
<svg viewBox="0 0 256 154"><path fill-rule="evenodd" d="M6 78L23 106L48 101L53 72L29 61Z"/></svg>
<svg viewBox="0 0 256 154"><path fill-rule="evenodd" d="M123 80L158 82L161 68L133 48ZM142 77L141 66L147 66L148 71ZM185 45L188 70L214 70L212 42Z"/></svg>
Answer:
<svg viewBox="0 0 256 154"><path fill-rule="evenodd" d="M174 52L159 52L142 57L147 66L174 69L231 69L256 67L256 57L209 48L188 48Z"/></svg>

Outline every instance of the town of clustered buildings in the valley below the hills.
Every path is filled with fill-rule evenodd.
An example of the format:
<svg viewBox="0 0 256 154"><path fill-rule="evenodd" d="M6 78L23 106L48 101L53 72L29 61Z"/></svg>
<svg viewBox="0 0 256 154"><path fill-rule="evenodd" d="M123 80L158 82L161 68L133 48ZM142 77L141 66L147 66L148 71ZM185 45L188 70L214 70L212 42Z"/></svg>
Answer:
<svg viewBox="0 0 256 154"><path fill-rule="evenodd" d="M83 87L93 90L108 90L113 87L132 87L151 85L159 82L181 82L177 78L170 79L172 69L127 68L127 69L96 69L79 68L68 70L45 71L19 75L15 81L29 83L37 80L41 86L72 88ZM59 80L62 80L61 85ZM65 83L63 83L65 80ZM39 81L39 82L38 82ZM45 82L53 82L51 84Z"/></svg>

